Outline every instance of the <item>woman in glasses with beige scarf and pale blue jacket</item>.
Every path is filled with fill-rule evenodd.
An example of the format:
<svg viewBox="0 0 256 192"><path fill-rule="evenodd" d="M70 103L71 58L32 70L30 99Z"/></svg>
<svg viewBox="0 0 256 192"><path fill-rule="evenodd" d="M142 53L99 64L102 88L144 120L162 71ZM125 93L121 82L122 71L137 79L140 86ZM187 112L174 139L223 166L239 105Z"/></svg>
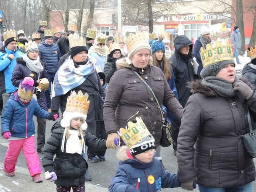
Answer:
<svg viewBox="0 0 256 192"><path fill-rule="evenodd" d="M109 49L105 46L106 35L101 33L96 37L93 46L89 49L88 55L91 55L97 60L96 65L100 67L101 71L104 70L107 54Z"/></svg>

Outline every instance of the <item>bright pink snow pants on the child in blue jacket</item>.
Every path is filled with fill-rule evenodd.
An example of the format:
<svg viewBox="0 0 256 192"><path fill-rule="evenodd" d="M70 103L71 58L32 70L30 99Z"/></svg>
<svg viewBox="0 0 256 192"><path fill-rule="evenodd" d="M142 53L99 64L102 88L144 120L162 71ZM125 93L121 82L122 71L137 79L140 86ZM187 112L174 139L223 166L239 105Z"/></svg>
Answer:
<svg viewBox="0 0 256 192"><path fill-rule="evenodd" d="M4 170L8 173L15 171L15 165L21 149L23 149L30 176L41 174L40 160L37 151L35 151L35 140L33 136L9 141L9 147L4 158Z"/></svg>

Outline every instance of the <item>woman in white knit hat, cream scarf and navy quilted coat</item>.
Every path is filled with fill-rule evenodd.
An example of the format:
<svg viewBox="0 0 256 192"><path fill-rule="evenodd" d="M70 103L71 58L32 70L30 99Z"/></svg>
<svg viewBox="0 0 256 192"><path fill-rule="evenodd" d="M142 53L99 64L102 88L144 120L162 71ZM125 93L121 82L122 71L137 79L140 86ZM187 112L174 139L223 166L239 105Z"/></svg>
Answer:
<svg viewBox="0 0 256 192"><path fill-rule="evenodd" d="M25 77L34 79L34 87L38 86L36 80L47 78L47 72L39 59L37 44L33 41L25 43L26 54L23 58L17 58L17 65L13 69L11 82L18 87ZM47 111L47 102L44 91L35 89L39 106ZM46 119L37 117L37 151L44 151Z"/></svg>

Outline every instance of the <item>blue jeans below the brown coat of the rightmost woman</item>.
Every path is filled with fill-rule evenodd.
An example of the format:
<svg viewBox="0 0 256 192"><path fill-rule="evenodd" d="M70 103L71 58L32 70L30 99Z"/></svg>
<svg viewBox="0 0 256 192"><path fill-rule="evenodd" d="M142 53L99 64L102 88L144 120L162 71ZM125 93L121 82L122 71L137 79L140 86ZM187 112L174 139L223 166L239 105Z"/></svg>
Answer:
<svg viewBox="0 0 256 192"><path fill-rule="evenodd" d="M229 187L229 188L213 188L198 185L200 192L252 192L252 182L244 186Z"/></svg>

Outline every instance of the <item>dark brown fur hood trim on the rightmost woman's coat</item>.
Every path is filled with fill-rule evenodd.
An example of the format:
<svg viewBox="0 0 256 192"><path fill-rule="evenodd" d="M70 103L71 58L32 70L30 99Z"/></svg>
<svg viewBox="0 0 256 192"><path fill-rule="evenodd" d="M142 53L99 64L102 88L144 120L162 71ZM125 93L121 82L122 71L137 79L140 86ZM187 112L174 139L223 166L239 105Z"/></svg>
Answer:
<svg viewBox="0 0 256 192"><path fill-rule="evenodd" d="M252 84L248 82L246 78L240 78L242 82L245 82L250 88L253 88ZM202 80L194 80L188 84L188 88L190 88L190 92L192 94L201 93L206 97L218 97L219 95L215 92L215 90L208 88L205 85L202 85Z"/></svg>

